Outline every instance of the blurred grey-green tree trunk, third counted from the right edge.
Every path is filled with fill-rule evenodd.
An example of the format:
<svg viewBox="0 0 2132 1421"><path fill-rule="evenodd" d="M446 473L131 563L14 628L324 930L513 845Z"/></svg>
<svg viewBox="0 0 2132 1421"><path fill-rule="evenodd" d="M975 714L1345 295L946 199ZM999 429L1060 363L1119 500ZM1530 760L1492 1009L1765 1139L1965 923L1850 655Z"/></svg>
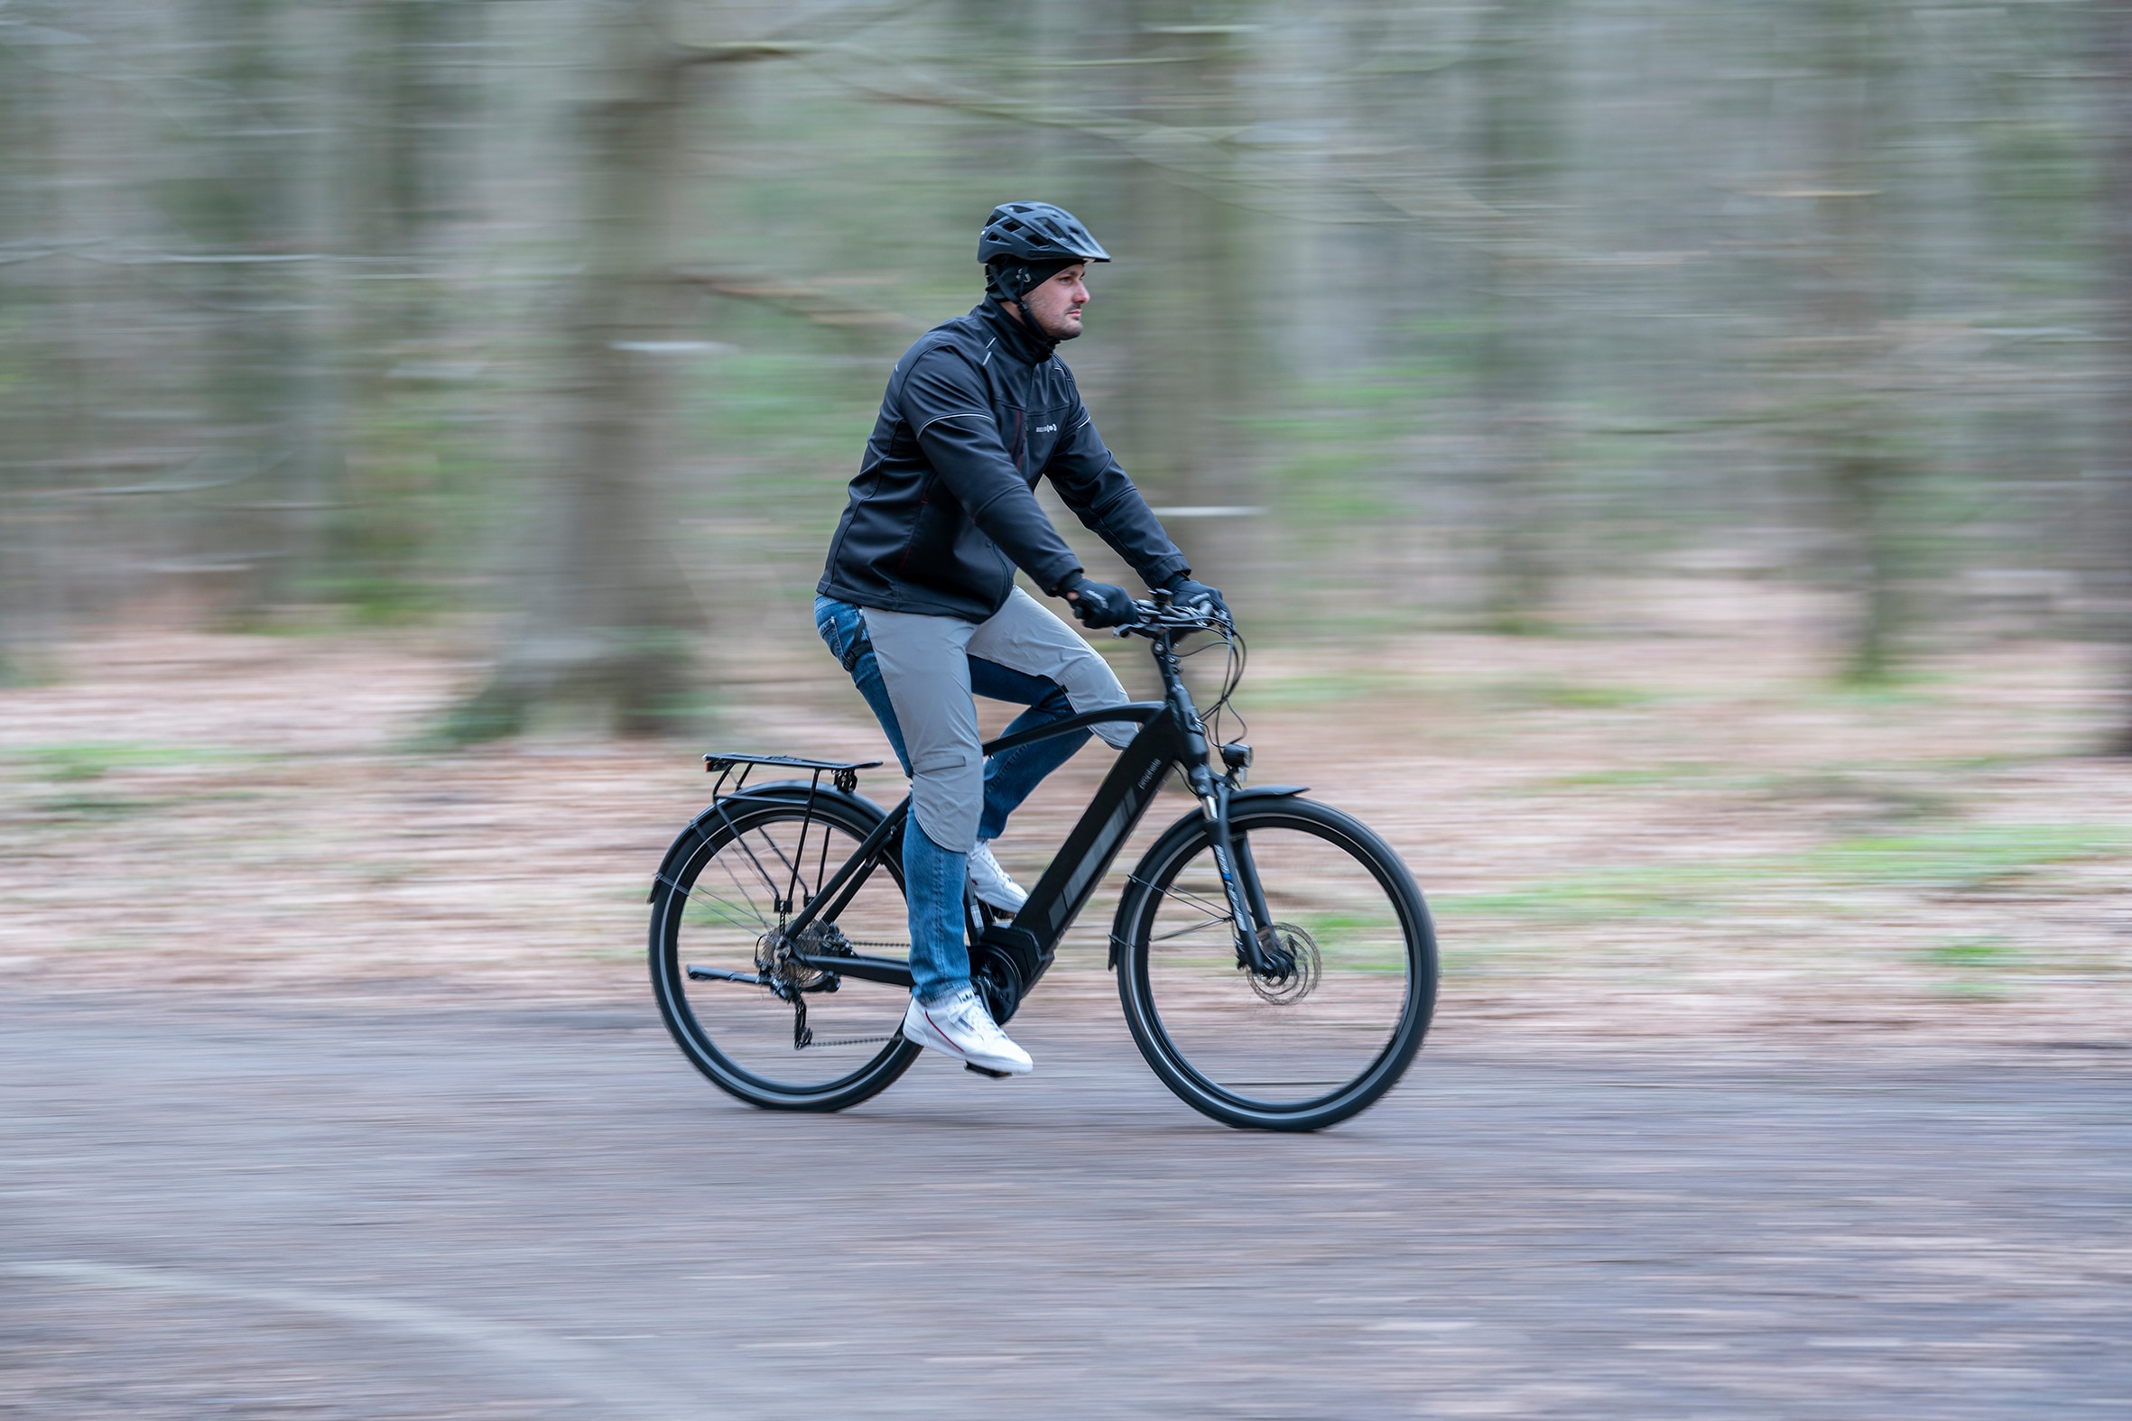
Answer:
<svg viewBox="0 0 2132 1421"><path fill-rule="evenodd" d="M1544 222L1561 166L1563 0L1507 0L1482 15L1475 196L1522 224ZM1495 631L1546 626L1554 584L1554 409L1563 341L1546 271L1482 239L1473 247L1473 388L1484 420L1486 616Z"/></svg>

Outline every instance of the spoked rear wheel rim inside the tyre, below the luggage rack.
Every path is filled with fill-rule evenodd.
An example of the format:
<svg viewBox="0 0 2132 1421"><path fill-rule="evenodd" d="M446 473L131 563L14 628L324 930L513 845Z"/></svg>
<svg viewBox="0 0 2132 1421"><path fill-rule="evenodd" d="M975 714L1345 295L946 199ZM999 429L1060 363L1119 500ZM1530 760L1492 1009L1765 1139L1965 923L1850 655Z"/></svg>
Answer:
<svg viewBox="0 0 2132 1421"><path fill-rule="evenodd" d="M802 844L804 829L804 844ZM774 810L736 820L697 850L667 886L661 986L682 1046L723 1082L742 1093L804 1099L834 1095L881 1069L898 1050L902 986L836 978L821 991L823 974L789 961L780 935L791 910L806 903L859 846L846 824L812 822L800 810ZM804 848L804 854L802 854ZM836 922L823 922L806 944L810 954L849 948L866 957L908 959L908 914L902 865L874 867ZM806 1006L806 1046L795 1046L795 1012L772 989L725 978L697 980L691 967L712 974L776 978L800 991Z"/></svg>

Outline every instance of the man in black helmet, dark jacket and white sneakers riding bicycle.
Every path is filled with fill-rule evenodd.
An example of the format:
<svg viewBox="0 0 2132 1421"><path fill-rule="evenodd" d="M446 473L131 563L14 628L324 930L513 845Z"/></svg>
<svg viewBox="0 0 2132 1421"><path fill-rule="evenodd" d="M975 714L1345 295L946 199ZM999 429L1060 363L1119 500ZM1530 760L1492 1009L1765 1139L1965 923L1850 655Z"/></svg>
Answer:
<svg viewBox="0 0 2132 1421"><path fill-rule="evenodd" d="M904 1035L987 1072L1023 1074L1030 1055L970 984L964 884L991 908L1021 908L1028 895L991 856L991 842L1030 790L1087 744L1087 731L985 761L972 697L1028 705L1008 733L1126 701L1102 656L1015 586L1017 567L1085 626L1134 620L1124 588L1083 573L1038 507L1036 479L1051 479L1147 586L1213 607L1222 594L1192 579L1055 354L1081 334L1087 264L1111 256L1072 213L1008 202L985 222L976 260L985 300L919 337L889 373L814 588L814 626L910 775ZM1134 726L1096 733L1121 748Z"/></svg>

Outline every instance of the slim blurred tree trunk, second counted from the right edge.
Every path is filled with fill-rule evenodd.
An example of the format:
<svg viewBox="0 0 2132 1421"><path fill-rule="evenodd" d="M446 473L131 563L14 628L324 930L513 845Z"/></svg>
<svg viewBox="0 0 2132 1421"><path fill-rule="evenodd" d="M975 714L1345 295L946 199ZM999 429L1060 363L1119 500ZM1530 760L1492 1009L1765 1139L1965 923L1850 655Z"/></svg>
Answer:
<svg viewBox="0 0 2132 1421"><path fill-rule="evenodd" d="M1848 543L1853 620L1844 680L1874 682L1895 663L1908 622L1910 548L1904 494L1915 456L1902 447L1897 401L1887 390L1887 277L1893 200L1880 173L1885 126L1897 104L1887 26L1904 11L1885 0L1823 0L1819 23L1816 254L1806 309L1816 330L1816 462Z"/></svg>

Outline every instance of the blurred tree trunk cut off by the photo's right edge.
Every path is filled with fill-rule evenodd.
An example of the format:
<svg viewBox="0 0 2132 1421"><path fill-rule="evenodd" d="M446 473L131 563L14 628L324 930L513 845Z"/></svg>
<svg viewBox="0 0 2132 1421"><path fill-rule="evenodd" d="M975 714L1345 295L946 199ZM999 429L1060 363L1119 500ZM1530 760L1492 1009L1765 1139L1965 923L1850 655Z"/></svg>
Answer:
<svg viewBox="0 0 2132 1421"><path fill-rule="evenodd" d="M2115 339L2115 394L2106 460L2111 469L2113 533L2117 556L2104 594L2111 599L2119 646L2126 654L2123 699L2115 754L2132 754L2132 4L2102 6L2102 72L2109 77L2109 170L2102 192L2102 222L2109 232L2106 307Z"/></svg>

